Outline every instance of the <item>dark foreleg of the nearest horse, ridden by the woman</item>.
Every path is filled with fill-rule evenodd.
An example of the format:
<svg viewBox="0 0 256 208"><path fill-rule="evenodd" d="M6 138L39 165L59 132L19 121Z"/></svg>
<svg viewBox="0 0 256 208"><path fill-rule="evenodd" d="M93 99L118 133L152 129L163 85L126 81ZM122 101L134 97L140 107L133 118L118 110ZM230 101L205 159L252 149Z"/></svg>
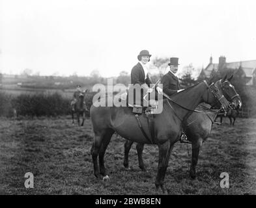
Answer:
<svg viewBox="0 0 256 208"><path fill-rule="evenodd" d="M159 190L159 187L162 188L164 194L167 194L167 190L164 186L164 177L165 172L168 166L169 157L171 150L173 149L173 145L171 144L170 140L167 140L164 144L159 144L159 160L158 160L158 174L156 175L156 189Z"/></svg>

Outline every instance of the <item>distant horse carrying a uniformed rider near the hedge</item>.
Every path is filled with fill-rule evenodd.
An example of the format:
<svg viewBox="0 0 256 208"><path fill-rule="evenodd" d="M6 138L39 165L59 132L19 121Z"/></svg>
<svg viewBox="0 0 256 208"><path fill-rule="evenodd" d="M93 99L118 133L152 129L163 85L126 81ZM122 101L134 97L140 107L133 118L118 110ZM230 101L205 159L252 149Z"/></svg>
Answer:
<svg viewBox="0 0 256 208"><path fill-rule="evenodd" d="M71 110L72 114L72 124L74 124L74 114L77 115L78 118L78 125L80 125L80 115L83 116L83 121L81 126L83 126L83 122L85 121L85 111L89 111L85 105L85 93L88 91L85 90L79 94L78 101L74 104L74 110Z"/></svg>

